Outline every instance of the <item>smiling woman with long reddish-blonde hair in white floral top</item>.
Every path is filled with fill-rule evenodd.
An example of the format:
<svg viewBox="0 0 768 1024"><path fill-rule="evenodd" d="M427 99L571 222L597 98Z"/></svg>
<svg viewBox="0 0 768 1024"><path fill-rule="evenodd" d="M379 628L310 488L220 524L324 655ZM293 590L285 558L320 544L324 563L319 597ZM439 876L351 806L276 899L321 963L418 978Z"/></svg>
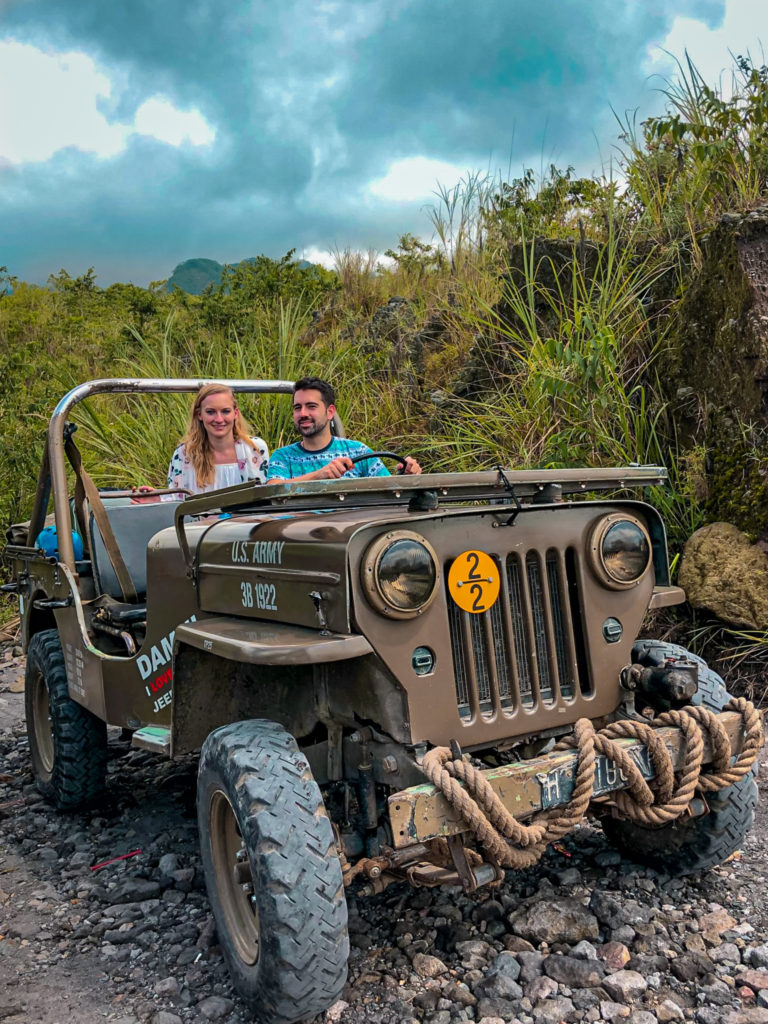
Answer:
<svg viewBox="0 0 768 1024"><path fill-rule="evenodd" d="M265 442L251 437L231 389L204 384L171 458L168 486L202 495L247 480L263 483L268 459Z"/></svg>

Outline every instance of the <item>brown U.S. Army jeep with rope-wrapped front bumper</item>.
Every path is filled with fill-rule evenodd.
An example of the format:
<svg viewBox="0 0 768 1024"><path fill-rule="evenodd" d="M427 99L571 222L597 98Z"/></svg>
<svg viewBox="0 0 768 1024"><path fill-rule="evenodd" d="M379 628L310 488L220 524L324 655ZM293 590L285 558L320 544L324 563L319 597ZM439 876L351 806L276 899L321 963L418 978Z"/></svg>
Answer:
<svg viewBox="0 0 768 1024"><path fill-rule="evenodd" d="M94 485L79 401L203 383L92 381L59 401L4 589L57 808L98 800L108 725L158 755L200 751L206 885L255 1019L338 997L349 887L499 884L586 813L671 873L737 849L760 718L700 659L637 640L648 609L684 600L637 496L663 469Z"/></svg>

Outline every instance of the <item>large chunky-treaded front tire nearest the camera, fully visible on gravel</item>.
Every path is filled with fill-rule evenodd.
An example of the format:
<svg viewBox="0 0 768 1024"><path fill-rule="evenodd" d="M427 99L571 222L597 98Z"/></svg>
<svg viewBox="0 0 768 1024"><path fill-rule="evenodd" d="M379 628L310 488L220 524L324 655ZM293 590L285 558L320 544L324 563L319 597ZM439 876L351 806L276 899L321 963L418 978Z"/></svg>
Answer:
<svg viewBox="0 0 768 1024"><path fill-rule="evenodd" d="M293 1024L328 1009L346 981L346 899L323 797L293 736L266 721L212 732L198 823L219 942L253 1019Z"/></svg>

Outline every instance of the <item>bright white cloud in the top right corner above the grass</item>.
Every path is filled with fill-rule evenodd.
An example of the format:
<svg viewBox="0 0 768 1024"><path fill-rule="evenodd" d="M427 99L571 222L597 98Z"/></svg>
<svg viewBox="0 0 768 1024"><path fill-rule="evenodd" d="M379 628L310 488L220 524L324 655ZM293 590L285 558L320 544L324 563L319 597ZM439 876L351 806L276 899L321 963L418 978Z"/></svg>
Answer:
<svg viewBox="0 0 768 1024"><path fill-rule="evenodd" d="M723 24L710 29L692 17L676 17L667 38L648 54L647 70L669 77L667 50L684 61L687 51L708 85L717 85L722 76L726 91L734 56L751 54L758 66L768 51L768 4L756 0L726 0Z"/></svg>

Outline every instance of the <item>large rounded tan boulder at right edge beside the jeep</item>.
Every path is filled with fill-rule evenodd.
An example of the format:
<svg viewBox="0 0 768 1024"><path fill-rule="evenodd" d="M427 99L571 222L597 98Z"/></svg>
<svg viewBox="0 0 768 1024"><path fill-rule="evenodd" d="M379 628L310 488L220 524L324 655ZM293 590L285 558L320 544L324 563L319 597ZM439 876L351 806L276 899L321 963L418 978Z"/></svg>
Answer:
<svg viewBox="0 0 768 1024"><path fill-rule="evenodd" d="M694 608L729 626L768 623L768 555L731 523L710 523L689 538L678 582Z"/></svg>

